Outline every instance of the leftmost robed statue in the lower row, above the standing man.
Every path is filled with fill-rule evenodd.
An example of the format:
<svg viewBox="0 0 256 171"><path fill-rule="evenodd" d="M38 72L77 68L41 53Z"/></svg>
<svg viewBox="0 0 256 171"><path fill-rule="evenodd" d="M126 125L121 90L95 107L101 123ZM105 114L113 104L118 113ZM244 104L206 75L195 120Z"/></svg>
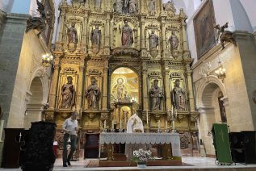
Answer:
<svg viewBox="0 0 256 171"><path fill-rule="evenodd" d="M75 105L75 90L71 76L67 77L68 82L61 87L61 109L68 109Z"/></svg>

